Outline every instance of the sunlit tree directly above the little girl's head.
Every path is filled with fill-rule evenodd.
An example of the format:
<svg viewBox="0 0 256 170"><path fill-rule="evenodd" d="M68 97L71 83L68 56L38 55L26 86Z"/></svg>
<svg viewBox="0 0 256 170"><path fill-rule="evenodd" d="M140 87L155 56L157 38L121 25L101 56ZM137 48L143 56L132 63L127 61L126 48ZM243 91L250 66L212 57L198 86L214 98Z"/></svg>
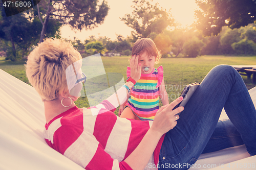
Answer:
<svg viewBox="0 0 256 170"><path fill-rule="evenodd" d="M167 26L173 26L172 15L164 9L159 9L159 5L151 5L145 0L135 0L134 11L126 14L121 20L135 30L132 35L136 38L144 38L151 33L162 33Z"/></svg>

